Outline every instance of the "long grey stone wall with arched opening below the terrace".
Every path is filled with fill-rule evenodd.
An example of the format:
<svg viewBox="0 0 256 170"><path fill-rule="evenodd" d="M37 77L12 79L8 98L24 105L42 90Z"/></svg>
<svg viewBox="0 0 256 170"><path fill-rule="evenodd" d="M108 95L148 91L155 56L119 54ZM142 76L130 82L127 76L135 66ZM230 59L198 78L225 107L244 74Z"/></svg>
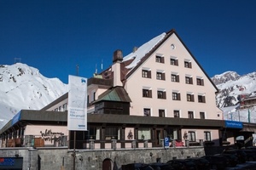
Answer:
<svg viewBox="0 0 256 170"><path fill-rule="evenodd" d="M23 169L58 170L73 169L73 150L67 148L5 148L0 149L0 157L23 157ZM110 161L112 167L121 167L133 162L166 162L176 158L204 156L203 147L143 148L123 150L76 150L76 170L102 170L102 162Z"/></svg>

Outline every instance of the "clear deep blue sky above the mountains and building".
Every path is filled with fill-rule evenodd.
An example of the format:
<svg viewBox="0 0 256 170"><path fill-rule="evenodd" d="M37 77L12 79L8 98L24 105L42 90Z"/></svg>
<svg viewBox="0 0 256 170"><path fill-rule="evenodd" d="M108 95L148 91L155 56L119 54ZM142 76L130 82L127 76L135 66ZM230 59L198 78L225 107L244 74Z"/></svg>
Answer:
<svg viewBox="0 0 256 170"><path fill-rule="evenodd" d="M0 64L20 58L67 83L76 65L92 77L116 49L125 56L173 28L209 77L243 75L255 71L255 8L254 0L0 0Z"/></svg>

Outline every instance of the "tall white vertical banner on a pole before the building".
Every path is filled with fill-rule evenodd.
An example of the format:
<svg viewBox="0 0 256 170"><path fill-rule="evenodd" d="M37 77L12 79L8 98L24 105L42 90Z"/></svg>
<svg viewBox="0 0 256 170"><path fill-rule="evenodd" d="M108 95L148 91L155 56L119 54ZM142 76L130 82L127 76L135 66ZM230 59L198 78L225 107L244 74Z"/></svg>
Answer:
<svg viewBox="0 0 256 170"><path fill-rule="evenodd" d="M67 129L87 130L87 78L68 76Z"/></svg>

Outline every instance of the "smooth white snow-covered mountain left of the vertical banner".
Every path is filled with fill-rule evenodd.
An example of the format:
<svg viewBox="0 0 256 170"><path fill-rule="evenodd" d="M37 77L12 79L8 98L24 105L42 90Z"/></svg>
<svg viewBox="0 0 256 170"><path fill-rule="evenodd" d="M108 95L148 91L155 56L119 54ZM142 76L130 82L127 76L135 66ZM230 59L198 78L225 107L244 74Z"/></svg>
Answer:
<svg viewBox="0 0 256 170"><path fill-rule="evenodd" d="M0 65L0 129L21 109L40 110L67 93L67 84L16 63Z"/></svg>

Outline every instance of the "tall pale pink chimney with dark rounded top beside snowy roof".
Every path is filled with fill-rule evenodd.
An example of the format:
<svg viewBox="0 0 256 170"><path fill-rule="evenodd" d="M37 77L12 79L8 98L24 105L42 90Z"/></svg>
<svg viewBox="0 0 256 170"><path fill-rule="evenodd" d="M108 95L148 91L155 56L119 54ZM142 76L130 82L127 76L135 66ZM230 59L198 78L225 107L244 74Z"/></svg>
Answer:
<svg viewBox="0 0 256 170"><path fill-rule="evenodd" d="M121 50L116 50L113 52L113 65L112 65L112 71L113 71L113 87L116 86L123 86L123 83L121 82L121 65L120 63L123 60L123 53Z"/></svg>

